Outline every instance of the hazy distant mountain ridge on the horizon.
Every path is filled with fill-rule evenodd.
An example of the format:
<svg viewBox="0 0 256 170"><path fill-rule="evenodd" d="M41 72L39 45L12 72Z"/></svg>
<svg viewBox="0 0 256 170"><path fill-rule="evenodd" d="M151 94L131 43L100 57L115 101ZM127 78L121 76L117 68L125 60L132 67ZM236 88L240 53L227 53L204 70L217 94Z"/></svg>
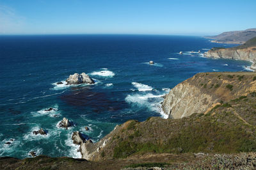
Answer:
<svg viewBox="0 0 256 170"><path fill-rule="evenodd" d="M244 31L228 31L216 36L205 36L205 38L212 39L211 42L215 43L243 44L255 36L256 28L252 28Z"/></svg>

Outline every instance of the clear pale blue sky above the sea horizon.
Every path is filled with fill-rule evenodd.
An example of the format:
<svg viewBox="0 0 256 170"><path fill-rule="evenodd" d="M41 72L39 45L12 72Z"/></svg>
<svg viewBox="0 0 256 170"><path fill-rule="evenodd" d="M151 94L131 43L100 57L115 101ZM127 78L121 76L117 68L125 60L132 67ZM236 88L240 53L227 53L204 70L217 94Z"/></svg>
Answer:
<svg viewBox="0 0 256 170"><path fill-rule="evenodd" d="M256 0L1 0L0 34L214 35L256 27Z"/></svg>

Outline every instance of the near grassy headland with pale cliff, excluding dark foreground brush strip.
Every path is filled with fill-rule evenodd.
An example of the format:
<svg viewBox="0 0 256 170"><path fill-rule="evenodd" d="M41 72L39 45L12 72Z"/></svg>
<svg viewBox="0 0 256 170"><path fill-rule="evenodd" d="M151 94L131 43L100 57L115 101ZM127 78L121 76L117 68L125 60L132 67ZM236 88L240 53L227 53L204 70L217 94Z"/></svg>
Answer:
<svg viewBox="0 0 256 170"><path fill-rule="evenodd" d="M99 161L145 153L256 151L255 91L254 72L198 73L166 95L163 109L175 119L127 121L98 143L81 143L81 154Z"/></svg>

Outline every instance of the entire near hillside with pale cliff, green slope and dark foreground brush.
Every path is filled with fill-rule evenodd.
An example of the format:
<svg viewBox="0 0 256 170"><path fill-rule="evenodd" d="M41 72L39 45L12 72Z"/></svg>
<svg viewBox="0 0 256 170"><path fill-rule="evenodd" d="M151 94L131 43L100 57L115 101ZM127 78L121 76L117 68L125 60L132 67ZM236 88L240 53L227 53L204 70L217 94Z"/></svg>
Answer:
<svg viewBox="0 0 256 170"><path fill-rule="evenodd" d="M98 143L74 132L86 160L6 157L0 169L255 169L256 73L198 73L175 86L163 105L173 100L180 104L173 117L179 109L186 116L130 120Z"/></svg>

